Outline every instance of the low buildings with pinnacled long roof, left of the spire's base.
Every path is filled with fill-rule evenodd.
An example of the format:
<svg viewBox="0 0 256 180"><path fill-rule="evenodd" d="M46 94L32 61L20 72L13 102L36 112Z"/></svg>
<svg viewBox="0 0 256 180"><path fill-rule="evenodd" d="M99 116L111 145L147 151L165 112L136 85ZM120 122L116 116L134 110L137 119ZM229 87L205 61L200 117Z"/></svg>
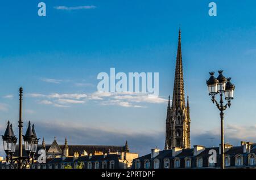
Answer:
<svg viewBox="0 0 256 180"><path fill-rule="evenodd" d="M52 144L38 145L38 151L46 151L46 163L39 163L38 154L30 165L31 169L128 169L131 168L134 158L138 153L129 151L128 143L125 145L68 145L65 138L64 144L58 144L56 138ZM24 148L23 148L24 150ZM26 152L24 152L26 153ZM14 153L14 157L18 152ZM6 161L0 162L0 168L10 169Z"/></svg>

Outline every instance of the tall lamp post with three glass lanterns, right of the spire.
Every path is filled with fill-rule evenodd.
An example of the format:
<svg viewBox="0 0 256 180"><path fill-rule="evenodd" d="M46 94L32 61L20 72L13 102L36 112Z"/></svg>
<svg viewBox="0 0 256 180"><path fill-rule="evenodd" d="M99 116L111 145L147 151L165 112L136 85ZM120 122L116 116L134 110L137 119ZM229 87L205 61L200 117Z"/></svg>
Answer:
<svg viewBox="0 0 256 180"><path fill-rule="evenodd" d="M224 156L224 110L226 108L230 108L231 100L233 100L234 96L234 88L235 86L230 82L231 78L226 79L224 75L222 75L222 70L219 70L218 77L214 78L214 72L210 73L210 78L207 80L207 86L209 91L209 96L212 96L212 102L216 104L218 110L220 110L221 117L221 168L225 168L225 156ZM220 102L218 103L215 99L215 95L220 94ZM225 100L228 100L228 103L224 105L223 94L225 94Z"/></svg>

